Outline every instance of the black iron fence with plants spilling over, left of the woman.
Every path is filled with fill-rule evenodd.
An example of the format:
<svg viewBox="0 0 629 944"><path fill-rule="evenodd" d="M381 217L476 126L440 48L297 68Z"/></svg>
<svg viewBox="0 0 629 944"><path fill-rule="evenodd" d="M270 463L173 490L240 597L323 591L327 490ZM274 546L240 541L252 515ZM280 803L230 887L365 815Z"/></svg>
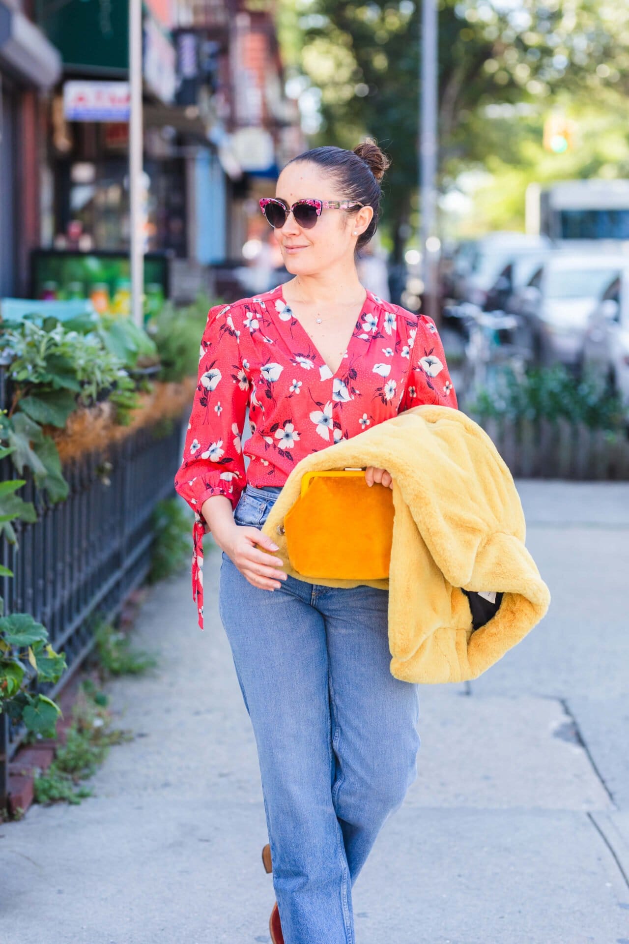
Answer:
<svg viewBox="0 0 629 944"><path fill-rule="evenodd" d="M27 480L20 495L38 512L35 524L16 522L19 549L2 543L5 613L29 613L46 627L50 644L65 653L58 683L41 683L55 699L93 646L92 615L111 619L146 577L154 539L152 513L174 495L181 458L183 417L129 433L102 452L64 467L70 494L50 504ZM17 478L6 459L0 480ZM0 715L0 804L8 792L8 762L25 729Z"/></svg>

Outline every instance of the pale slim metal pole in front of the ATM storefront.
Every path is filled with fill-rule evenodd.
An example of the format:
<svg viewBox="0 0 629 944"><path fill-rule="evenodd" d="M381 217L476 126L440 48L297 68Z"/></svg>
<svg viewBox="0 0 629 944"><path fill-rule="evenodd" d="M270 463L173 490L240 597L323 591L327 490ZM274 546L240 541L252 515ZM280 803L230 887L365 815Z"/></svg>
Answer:
<svg viewBox="0 0 629 944"><path fill-rule="evenodd" d="M143 323L144 246L142 225L142 0L129 3L129 234L131 317Z"/></svg>

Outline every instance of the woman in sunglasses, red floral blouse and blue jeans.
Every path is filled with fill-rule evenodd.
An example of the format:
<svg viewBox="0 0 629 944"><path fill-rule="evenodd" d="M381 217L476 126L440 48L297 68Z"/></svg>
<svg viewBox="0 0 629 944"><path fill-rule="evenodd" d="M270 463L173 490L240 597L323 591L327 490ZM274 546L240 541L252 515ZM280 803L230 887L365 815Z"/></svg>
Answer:
<svg viewBox="0 0 629 944"><path fill-rule="evenodd" d="M314 148L260 201L293 278L210 310L175 479L196 513L202 627L204 532L223 550L219 612L256 736L274 944L355 944L352 887L418 772L419 685L389 671L389 592L299 581L260 531L304 456L421 403L457 409L435 323L357 277L388 166L369 141ZM386 469L365 478L392 487Z"/></svg>

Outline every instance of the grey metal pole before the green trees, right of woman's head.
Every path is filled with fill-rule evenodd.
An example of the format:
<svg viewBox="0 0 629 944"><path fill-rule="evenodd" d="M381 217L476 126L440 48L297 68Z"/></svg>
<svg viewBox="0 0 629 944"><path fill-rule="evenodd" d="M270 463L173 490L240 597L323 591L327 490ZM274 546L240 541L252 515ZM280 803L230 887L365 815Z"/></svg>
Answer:
<svg viewBox="0 0 629 944"><path fill-rule="evenodd" d="M437 320L437 0L422 0L421 168L423 312Z"/></svg>

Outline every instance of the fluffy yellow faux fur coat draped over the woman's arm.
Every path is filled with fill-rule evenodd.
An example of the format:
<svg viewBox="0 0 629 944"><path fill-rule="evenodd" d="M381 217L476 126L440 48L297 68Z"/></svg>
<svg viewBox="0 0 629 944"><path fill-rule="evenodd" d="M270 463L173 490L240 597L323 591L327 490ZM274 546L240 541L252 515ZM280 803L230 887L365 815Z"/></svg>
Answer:
<svg viewBox="0 0 629 944"><path fill-rule="evenodd" d="M393 480L389 578L308 580L290 566L284 517L314 469L375 465ZM469 416L422 404L302 459L261 529L284 569L325 586L389 590L390 672L405 682L475 679L546 614L550 592L524 546L525 522L513 477L488 434ZM474 629L470 596L502 595Z"/></svg>

